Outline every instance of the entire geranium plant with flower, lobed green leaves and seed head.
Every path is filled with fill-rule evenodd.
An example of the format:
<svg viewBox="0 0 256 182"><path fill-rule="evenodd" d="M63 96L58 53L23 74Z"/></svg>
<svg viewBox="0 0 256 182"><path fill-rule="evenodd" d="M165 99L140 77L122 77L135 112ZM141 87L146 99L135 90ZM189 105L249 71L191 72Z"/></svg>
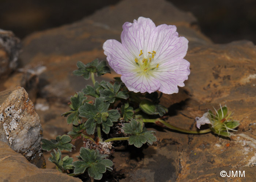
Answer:
<svg viewBox="0 0 256 182"><path fill-rule="evenodd" d="M114 152L113 141L128 140L129 145L139 148L157 140L155 132L147 130L145 123L185 133L212 131L229 136L228 130L233 130L238 123L230 119L226 107L221 107L217 116L208 111L197 119L197 127L208 123L209 129L189 131L163 120L168 109L159 104L162 93L177 93L178 86L184 86L188 79L190 63L184 59L187 49L188 40L178 37L176 26L156 27L151 19L143 17L133 23L126 22L121 43L107 40L103 44L109 65L121 77L115 77L112 82L98 82L95 74L99 77L110 73L105 61L77 63L74 75L86 80L91 78L93 85L86 85L72 96L70 111L63 114L67 123L73 125L72 131L57 136L56 140L42 140L43 150L53 150L49 160L69 175L87 171L91 179L101 179L106 170L112 171L113 162L106 158ZM89 100L87 96L95 99ZM76 139L83 139L84 143L78 160L73 162L69 156L61 159L61 151L71 151L74 146L70 142Z"/></svg>

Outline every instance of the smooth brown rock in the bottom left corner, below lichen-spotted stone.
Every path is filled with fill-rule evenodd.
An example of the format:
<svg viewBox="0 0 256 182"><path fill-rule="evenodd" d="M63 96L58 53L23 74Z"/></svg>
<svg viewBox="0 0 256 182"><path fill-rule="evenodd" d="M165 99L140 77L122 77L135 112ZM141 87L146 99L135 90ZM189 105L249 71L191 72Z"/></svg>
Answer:
<svg viewBox="0 0 256 182"><path fill-rule="evenodd" d="M55 169L39 169L21 154L16 153L6 143L0 141L0 179L1 181L36 182L79 182Z"/></svg>

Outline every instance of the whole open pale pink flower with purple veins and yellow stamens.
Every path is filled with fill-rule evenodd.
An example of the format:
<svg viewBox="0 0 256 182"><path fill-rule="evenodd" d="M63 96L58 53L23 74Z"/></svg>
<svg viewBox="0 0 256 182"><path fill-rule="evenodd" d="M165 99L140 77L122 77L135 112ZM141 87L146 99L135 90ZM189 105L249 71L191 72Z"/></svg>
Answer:
<svg viewBox="0 0 256 182"><path fill-rule="evenodd" d="M149 18L124 23L121 43L107 40L103 49L109 65L133 92L178 93L190 73L190 63L183 59L188 40L178 37L176 26L156 27Z"/></svg>

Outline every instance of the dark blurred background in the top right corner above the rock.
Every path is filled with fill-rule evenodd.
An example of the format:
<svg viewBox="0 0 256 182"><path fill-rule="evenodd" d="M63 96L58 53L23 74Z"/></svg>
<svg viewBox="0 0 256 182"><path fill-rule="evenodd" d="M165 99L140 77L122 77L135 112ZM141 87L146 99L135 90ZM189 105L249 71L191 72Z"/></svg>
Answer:
<svg viewBox="0 0 256 182"><path fill-rule="evenodd" d="M191 12L201 31L214 43L251 40L256 44L256 1L244 0L168 0L177 8Z"/></svg>

